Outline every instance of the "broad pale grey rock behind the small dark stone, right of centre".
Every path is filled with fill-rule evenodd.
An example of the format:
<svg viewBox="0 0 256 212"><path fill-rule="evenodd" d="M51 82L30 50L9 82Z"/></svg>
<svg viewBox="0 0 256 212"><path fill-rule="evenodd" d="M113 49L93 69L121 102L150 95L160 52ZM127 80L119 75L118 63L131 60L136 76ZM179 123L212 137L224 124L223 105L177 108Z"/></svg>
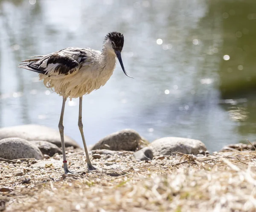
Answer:
<svg viewBox="0 0 256 212"><path fill-rule="evenodd" d="M157 139L153 141L149 147L152 148L154 156L171 155L176 151L184 154L197 155L202 151L207 150L202 141L179 137L164 137Z"/></svg>

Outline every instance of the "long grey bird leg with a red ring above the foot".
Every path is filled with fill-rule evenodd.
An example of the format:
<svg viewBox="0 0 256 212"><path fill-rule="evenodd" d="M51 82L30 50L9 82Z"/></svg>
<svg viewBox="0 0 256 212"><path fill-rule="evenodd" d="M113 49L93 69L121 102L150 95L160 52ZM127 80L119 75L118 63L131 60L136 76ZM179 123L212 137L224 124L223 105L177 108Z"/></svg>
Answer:
<svg viewBox="0 0 256 212"><path fill-rule="evenodd" d="M68 168L67 168L67 158L66 158L66 150L65 150L65 143L64 143L63 116L64 116L64 109L65 109L66 100L67 100L67 98L63 97L62 107L61 107L61 118L60 118L60 122L58 124L58 127L59 127L60 135L61 135L61 147L62 147L63 166L64 166L65 174L67 174L67 173L74 174L74 172L69 171Z"/></svg>

